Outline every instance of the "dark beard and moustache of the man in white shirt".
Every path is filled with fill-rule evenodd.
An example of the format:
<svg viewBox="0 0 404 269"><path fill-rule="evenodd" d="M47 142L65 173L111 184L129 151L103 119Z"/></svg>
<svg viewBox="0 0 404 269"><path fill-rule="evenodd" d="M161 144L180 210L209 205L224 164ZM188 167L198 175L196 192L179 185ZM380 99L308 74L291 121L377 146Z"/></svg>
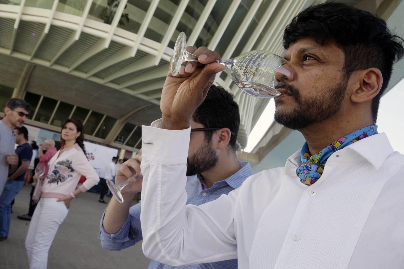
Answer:
<svg viewBox="0 0 404 269"><path fill-rule="evenodd" d="M274 119L277 123L293 130L324 121L341 110L347 84L348 79L344 79L334 88L322 90L322 95L302 98L295 86L285 83L282 88L287 89L292 95L297 102L297 107L291 111L276 111Z"/></svg>

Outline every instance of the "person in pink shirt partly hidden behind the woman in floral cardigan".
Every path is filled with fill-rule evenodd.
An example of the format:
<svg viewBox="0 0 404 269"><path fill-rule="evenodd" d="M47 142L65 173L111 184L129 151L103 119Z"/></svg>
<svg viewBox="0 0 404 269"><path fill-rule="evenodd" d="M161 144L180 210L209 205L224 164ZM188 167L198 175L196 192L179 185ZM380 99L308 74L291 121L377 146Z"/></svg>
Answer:
<svg viewBox="0 0 404 269"><path fill-rule="evenodd" d="M50 159L53 156L55 156L56 152L57 152L57 149L55 148L55 140L53 140L53 139L46 140L38 148L39 163L37 165L43 165L45 167L45 173L41 177L41 179L44 179L46 177L46 175L48 175L48 170L49 170L48 162L50 161ZM32 195L34 194L34 190L35 190L35 183L33 183L31 193L29 194L30 199L29 199L28 213L25 215L17 216L19 219L22 219L25 221L30 221L32 219L32 215L34 215L36 205L38 204L38 202L34 202L32 200Z"/></svg>

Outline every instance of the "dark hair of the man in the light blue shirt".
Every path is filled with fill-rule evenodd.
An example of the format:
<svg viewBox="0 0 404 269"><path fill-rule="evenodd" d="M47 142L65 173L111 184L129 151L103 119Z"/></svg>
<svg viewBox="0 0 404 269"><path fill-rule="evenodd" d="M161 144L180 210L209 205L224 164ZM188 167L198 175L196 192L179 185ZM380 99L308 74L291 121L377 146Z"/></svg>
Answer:
<svg viewBox="0 0 404 269"><path fill-rule="evenodd" d="M230 131L234 132L234 135L230 137L229 145L231 149L236 150L240 112L233 94L227 92L223 87L210 86L205 100L196 108L192 119L206 128L229 128ZM215 131L217 130L205 131L205 139L210 141Z"/></svg>

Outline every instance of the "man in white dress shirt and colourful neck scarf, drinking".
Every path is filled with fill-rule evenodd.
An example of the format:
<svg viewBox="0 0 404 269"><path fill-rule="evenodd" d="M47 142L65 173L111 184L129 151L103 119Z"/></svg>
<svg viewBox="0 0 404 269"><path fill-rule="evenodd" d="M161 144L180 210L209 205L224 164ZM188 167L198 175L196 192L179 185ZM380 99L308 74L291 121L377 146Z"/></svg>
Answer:
<svg viewBox="0 0 404 269"><path fill-rule="evenodd" d="M168 73L162 119L142 127L141 166L129 167L143 175L143 252L173 266L403 268L404 155L375 125L403 39L383 19L330 2L299 13L283 45L292 75L277 77L275 120L306 143L285 167L200 206L185 205L190 120L224 67L217 53L188 48L200 64Z"/></svg>

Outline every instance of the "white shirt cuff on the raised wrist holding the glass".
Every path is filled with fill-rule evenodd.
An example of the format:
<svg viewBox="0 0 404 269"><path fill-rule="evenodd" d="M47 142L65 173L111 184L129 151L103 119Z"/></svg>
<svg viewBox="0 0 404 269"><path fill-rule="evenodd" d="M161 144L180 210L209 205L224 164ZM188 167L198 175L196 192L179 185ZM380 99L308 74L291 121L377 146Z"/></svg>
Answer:
<svg viewBox="0 0 404 269"><path fill-rule="evenodd" d="M142 158L164 165L186 163L191 127L183 130L161 129L161 119L142 126Z"/></svg>

